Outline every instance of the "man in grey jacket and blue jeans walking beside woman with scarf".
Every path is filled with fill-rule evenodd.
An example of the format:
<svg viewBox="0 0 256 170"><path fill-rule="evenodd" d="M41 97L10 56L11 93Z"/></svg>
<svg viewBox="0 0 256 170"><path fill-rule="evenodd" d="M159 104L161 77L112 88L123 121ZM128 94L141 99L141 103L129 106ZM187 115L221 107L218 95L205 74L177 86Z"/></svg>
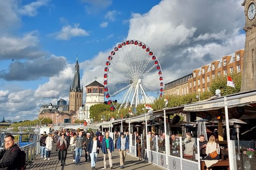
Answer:
<svg viewBox="0 0 256 170"><path fill-rule="evenodd" d="M80 165L83 145L85 145L85 138L83 137L83 130L78 131L78 136L75 138L76 142L76 162L75 165Z"/></svg>

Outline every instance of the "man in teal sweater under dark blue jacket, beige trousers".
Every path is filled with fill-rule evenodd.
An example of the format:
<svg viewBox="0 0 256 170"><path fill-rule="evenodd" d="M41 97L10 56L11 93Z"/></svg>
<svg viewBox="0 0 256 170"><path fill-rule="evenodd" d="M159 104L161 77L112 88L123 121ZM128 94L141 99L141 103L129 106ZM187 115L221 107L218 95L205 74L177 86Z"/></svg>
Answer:
<svg viewBox="0 0 256 170"><path fill-rule="evenodd" d="M105 133L105 138L102 139L101 148L104 156L104 168L102 169L107 169L107 162L106 162L107 154L109 155L109 166L110 166L110 169L112 169L113 168L112 151L114 151L114 142L113 142L113 139L109 137L109 132Z"/></svg>

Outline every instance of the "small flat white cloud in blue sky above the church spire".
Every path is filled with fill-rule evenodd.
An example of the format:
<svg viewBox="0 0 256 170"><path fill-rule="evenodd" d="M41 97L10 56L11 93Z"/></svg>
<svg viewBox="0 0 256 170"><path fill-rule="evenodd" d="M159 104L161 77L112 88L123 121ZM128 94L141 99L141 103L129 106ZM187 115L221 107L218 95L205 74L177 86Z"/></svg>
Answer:
<svg viewBox="0 0 256 170"><path fill-rule="evenodd" d="M75 24L74 27L71 25L63 26L60 32L54 33L53 35L56 35L56 39L58 40L70 40L73 37L88 36L89 33L79 28L79 24Z"/></svg>

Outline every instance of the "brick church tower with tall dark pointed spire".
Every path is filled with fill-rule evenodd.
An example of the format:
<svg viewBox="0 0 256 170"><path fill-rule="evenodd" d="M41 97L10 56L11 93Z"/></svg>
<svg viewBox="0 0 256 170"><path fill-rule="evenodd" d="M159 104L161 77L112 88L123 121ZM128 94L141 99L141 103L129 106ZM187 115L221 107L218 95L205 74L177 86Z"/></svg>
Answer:
<svg viewBox="0 0 256 170"><path fill-rule="evenodd" d="M83 106L83 86L80 86L78 56L76 56L75 76L69 92L69 113L79 110Z"/></svg>

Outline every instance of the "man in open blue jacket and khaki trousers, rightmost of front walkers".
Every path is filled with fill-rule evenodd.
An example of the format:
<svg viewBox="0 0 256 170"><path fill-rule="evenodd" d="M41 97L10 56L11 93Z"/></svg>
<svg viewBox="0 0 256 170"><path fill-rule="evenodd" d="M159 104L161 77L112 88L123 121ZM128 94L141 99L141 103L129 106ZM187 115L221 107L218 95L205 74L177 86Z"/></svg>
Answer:
<svg viewBox="0 0 256 170"><path fill-rule="evenodd" d="M120 133L120 137L117 139L117 149L120 155L120 168L124 168L126 151L129 149L129 139L125 137L124 133Z"/></svg>

